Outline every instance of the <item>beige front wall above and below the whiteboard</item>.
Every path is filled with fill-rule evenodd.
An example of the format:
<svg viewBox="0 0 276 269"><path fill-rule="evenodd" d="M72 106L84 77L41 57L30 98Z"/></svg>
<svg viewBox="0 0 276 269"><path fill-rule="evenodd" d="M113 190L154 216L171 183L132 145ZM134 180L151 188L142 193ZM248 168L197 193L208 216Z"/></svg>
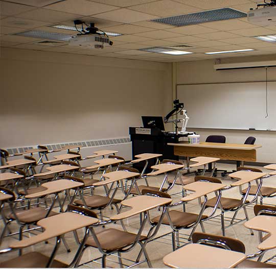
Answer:
<svg viewBox="0 0 276 269"><path fill-rule="evenodd" d="M264 61L274 59L276 59L276 56L274 55L263 57L229 58L222 59L221 63ZM214 63L214 60L178 63L177 84L265 81L265 68L216 71L213 68ZM270 67L268 69L268 80L276 80L276 67ZM185 103L185 100L181 101ZM250 99L248 101L250 101ZM227 100L225 100L225 102L227 102ZM197 105L196 100L194 105ZM250 105L250 102L246 105ZM257 150L257 161L269 163L276 162L276 132L220 129L196 129L190 131L196 131L199 133L202 141L204 141L205 138L211 134L225 135L226 141L229 143L243 143L246 137L255 136L257 138L256 143L262 144L263 146L261 149Z"/></svg>

